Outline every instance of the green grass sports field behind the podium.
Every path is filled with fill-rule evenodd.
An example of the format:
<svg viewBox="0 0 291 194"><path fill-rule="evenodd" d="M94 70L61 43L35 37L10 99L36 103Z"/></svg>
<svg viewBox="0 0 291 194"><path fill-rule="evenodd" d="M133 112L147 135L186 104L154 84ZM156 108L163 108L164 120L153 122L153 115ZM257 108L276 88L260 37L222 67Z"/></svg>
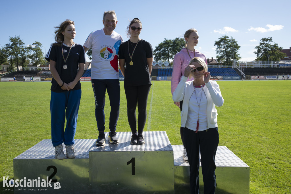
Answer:
<svg viewBox="0 0 291 194"><path fill-rule="evenodd" d="M217 107L219 145L225 145L249 165L250 193L291 193L291 81L218 83L224 98L224 105ZM75 139L97 138L91 82L81 84ZM180 110L173 103L170 84L170 81L152 81L144 131L166 131L172 145L182 145ZM1 186L3 176L13 178L13 158L51 138L50 86L50 82L0 82ZM123 82L120 86L117 131L130 131ZM109 131L109 111L107 96L106 131Z"/></svg>

